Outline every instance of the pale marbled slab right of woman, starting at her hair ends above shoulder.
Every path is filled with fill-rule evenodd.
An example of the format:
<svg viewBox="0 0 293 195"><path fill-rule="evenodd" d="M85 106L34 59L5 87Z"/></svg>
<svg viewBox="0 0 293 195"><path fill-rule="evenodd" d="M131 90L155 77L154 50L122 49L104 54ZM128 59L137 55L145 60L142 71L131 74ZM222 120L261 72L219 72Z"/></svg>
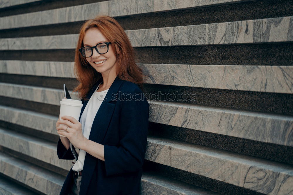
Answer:
<svg viewBox="0 0 293 195"><path fill-rule="evenodd" d="M293 93L291 66L138 64L145 83L273 93Z"/></svg>

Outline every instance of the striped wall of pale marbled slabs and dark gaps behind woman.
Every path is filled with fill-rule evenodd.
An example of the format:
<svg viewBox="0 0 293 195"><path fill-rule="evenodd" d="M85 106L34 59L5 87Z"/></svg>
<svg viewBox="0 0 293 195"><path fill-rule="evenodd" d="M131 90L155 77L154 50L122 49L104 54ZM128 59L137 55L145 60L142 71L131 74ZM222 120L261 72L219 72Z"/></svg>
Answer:
<svg viewBox="0 0 293 195"><path fill-rule="evenodd" d="M291 0L0 0L0 194L59 194L62 87L98 14L152 94L142 194L292 194ZM175 92L195 98L151 99Z"/></svg>

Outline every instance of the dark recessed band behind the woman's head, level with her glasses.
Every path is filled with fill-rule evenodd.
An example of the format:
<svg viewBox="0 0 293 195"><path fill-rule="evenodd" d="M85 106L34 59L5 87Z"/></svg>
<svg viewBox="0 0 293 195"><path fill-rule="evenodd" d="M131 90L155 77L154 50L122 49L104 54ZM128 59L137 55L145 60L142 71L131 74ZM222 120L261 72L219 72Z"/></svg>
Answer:
<svg viewBox="0 0 293 195"><path fill-rule="evenodd" d="M292 66L293 44L135 47L139 64ZM2 50L1 60L74 60L74 49ZM150 57L151 56L151 57Z"/></svg>

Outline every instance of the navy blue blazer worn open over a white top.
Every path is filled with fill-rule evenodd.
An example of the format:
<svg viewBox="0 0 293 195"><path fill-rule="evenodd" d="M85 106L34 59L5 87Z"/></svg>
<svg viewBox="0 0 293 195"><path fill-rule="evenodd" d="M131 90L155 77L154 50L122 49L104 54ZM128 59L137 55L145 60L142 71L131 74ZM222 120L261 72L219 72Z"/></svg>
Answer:
<svg viewBox="0 0 293 195"><path fill-rule="evenodd" d="M102 79L101 77L93 85L87 95L88 99ZM130 99L131 95L134 98ZM79 194L140 193L149 123L149 103L142 97L144 94L137 84L115 78L100 105L88 138L104 145L105 161L86 153ZM88 103L88 100L81 101L83 107L79 121ZM70 148L66 150L60 138L57 155L59 159L74 160ZM73 176L71 167L62 186L61 195L67 195L74 182Z"/></svg>

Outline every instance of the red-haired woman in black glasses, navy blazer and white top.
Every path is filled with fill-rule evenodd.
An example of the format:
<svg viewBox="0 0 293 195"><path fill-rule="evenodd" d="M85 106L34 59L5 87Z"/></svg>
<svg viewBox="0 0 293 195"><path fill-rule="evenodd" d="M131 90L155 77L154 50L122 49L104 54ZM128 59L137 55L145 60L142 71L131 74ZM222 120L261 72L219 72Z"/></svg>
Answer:
<svg viewBox="0 0 293 195"><path fill-rule="evenodd" d="M74 92L83 103L80 122L58 120L57 132L66 137L60 136L57 154L74 159L69 141L80 151L60 194L139 194L149 104L133 47L114 18L99 16L81 27L74 73L80 81Z"/></svg>

